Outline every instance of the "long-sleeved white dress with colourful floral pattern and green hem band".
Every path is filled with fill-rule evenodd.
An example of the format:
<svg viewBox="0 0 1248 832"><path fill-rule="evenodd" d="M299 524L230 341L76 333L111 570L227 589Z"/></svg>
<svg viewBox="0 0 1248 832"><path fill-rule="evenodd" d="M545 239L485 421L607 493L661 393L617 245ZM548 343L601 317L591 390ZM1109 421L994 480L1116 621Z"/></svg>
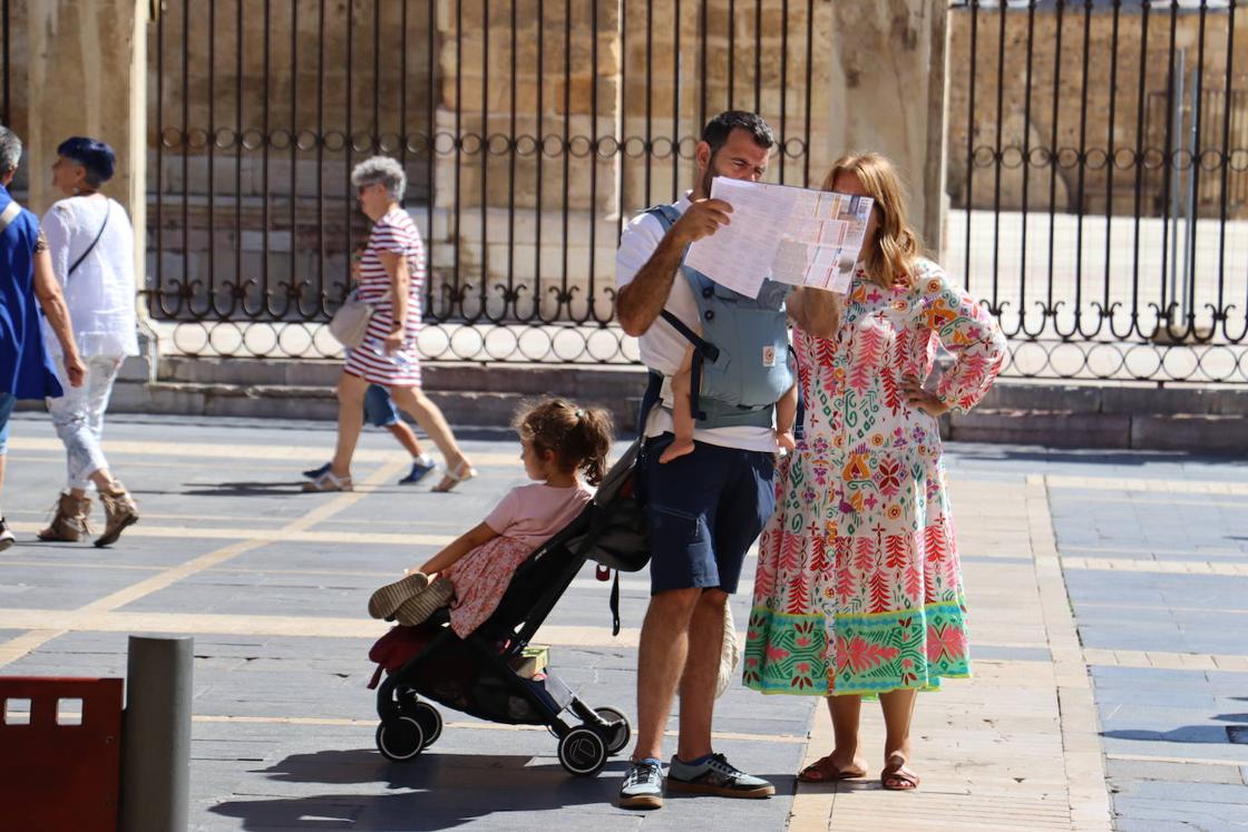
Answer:
<svg viewBox="0 0 1248 832"><path fill-rule="evenodd" d="M966 599L936 419L910 407L937 343L937 395L975 407L1006 357L1000 328L938 266L885 289L861 268L835 339L794 334L805 437L759 541L745 684L764 694L935 689L968 676Z"/></svg>

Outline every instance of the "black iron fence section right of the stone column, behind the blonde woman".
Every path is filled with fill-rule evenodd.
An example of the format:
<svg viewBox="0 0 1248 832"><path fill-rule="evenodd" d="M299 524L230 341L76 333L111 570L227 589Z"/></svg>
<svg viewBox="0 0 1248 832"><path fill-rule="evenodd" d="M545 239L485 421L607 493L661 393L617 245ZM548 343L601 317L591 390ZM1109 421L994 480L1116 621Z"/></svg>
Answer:
<svg viewBox="0 0 1248 832"><path fill-rule="evenodd" d="M1011 373L1248 382L1239 5L951 9L947 259Z"/></svg>

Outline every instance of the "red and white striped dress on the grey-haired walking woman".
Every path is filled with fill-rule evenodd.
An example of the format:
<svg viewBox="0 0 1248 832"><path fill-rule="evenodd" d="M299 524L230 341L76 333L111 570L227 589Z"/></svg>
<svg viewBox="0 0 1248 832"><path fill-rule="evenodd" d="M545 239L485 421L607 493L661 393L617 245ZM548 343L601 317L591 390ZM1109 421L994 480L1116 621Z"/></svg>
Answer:
<svg viewBox="0 0 1248 832"><path fill-rule="evenodd" d="M404 327L402 356L386 354L386 336L393 329L394 319L391 299L383 296L391 289L391 278L382 266L379 252L407 256L411 274L407 291L407 324ZM421 331L421 301L424 297L424 246L416 223L402 208L394 208L373 226L368 248L359 262L359 299L373 304L373 317L368 322L364 343L347 354L343 369L382 387L419 387L421 363L416 351L416 338ZM404 362L403 358L407 360Z"/></svg>

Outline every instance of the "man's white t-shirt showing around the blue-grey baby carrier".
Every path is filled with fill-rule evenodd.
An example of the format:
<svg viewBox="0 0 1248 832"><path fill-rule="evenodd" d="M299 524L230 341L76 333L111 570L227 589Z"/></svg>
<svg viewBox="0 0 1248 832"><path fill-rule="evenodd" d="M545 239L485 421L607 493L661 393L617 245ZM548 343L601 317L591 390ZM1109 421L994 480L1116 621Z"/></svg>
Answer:
<svg viewBox="0 0 1248 832"><path fill-rule="evenodd" d="M680 213L684 213L689 206L688 193L679 202L673 203L673 207ZM618 288L624 288L633 282L633 278L641 271L641 267L649 262L665 233L663 223L659 222L658 217L648 213L638 215L624 227L624 233L620 236L619 251L615 252L615 286ZM698 301L694 298L693 289L689 288L689 281L680 272L676 272L664 308L676 316L676 318L694 332L701 332ZM650 328L638 338L638 346L640 347L641 363L655 372L663 373L665 378L670 378L680 369L685 349L690 344L671 324L663 318L655 318ZM665 409L671 407L669 384L663 385L663 397L664 407L656 407L650 410L650 418L645 424L645 435L648 437L658 437L673 429L671 413ZM768 453L776 450L775 430L770 428L749 425L695 428L694 440L724 448L741 448L744 450L763 450Z"/></svg>

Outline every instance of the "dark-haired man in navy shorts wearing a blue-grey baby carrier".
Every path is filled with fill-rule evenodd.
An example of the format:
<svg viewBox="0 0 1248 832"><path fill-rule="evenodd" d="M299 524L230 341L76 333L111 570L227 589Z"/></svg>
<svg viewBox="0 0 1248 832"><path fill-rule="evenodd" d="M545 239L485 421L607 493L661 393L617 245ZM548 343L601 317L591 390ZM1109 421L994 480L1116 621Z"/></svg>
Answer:
<svg viewBox="0 0 1248 832"><path fill-rule="evenodd" d="M650 525L650 606L638 657L638 742L620 806L663 805L663 731L680 687L680 735L666 787L673 792L769 797L775 788L711 747L711 715L724 605L736 590L745 553L775 508L775 403L792 384L786 316L806 332L832 337L837 296L795 278L766 279L776 244L741 293L690 267L686 252L711 248L734 222L734 206L713 187L758 182L775 138L755 114L729 111L703 130L693 191L634 218L617 254L620 326L636 336L651 373L643 430L643 489ZM718 177L718 178L716 178ZM734 182L735 183L735 182ZM791 206L790 206L791 207ZM822 233L820 231L820 233ZM740 241L738 241L740 244ZM691 253L691 252L689 252ZM855 251L856 253L856 251ZM824 284L826 286L826 283ZM674 440L671 384L694 347L694 449L654 464Z"/></svg>

